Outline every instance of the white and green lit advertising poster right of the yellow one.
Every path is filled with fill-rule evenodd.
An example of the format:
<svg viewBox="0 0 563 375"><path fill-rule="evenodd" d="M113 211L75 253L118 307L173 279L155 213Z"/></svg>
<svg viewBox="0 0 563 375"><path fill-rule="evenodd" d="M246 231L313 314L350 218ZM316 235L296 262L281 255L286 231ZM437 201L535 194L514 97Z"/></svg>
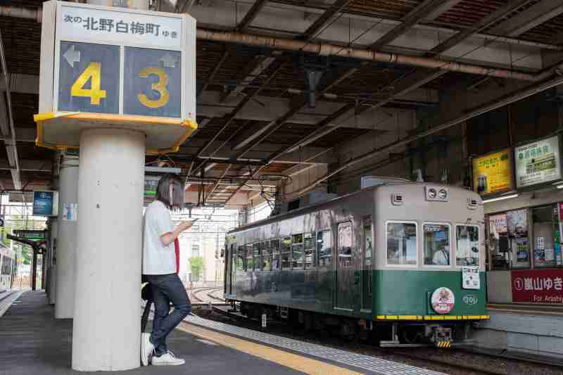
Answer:
<svg viewBox="0 0 563 375"><path fill-rule="evenodd" d="M559 136L514 148L517 188L561 179Z"/></svg>

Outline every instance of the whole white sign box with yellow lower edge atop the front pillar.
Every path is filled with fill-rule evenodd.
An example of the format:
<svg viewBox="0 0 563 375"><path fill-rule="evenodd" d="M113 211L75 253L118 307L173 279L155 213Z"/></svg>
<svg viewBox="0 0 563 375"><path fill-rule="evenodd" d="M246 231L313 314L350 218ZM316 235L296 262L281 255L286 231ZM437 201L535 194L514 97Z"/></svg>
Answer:
<svg viewBox="0 0 563 375"><path fill-rule="evenodd" d="M82 129L146 134L177 151L196 129L196 20L187 14L43 4L37 144L77 147Z"/></svg>

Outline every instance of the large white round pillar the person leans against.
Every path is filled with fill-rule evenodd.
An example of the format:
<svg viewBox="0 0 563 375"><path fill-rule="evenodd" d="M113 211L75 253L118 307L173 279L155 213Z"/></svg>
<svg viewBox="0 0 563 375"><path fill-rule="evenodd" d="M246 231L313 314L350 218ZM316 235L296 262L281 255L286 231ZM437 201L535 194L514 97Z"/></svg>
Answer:
<svg viewBox="0 0 563 375"><path fill-rule="evenodd" d="M139 367L145 135L80 135L72 369Z"/></svg>

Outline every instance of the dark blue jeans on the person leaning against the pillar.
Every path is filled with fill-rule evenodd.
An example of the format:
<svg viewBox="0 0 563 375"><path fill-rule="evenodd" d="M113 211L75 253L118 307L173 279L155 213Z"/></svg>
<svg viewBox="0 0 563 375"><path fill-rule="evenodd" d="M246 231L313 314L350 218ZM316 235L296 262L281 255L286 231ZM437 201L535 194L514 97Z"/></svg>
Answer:
<svg viewBox="0 0 563 375"><path fill-rule="evenodd" d="M151 284L155 306L151 343L160 357L168 350L166 338L170 332L191 312L191 303L177 274L146 275L146 281ZM174 305L172 314L170 302Z"/></svg>

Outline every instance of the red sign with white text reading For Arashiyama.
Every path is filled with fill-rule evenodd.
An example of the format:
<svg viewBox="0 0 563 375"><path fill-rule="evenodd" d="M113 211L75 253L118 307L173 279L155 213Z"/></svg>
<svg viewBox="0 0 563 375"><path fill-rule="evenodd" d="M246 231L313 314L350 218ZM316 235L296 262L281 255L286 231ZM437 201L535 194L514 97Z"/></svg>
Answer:
<svg viewBox="0 0 563 375"><path fill-rule="evenodd" d="M561 269L512 270L512 302L563 303Z"/></svg>

